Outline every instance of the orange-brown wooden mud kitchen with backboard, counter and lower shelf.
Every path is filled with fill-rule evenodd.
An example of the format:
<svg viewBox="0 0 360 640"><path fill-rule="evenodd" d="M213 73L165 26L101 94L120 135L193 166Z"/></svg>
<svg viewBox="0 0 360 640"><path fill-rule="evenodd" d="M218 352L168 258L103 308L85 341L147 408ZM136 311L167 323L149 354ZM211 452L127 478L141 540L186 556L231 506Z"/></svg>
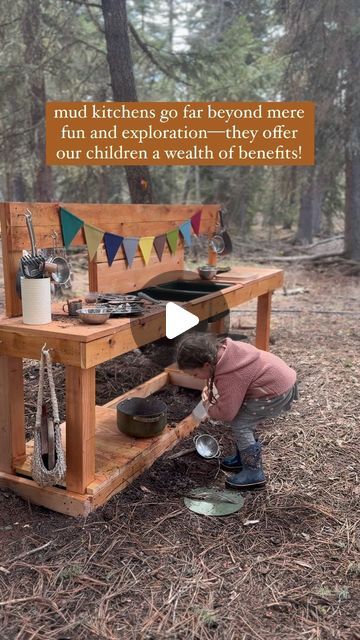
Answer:
<svg viewBox="0 0 360 640"><path fill-rule="evenodd" d="M218 205L100 205L62 204L86 225L123 237L157 237L201 214L201 235L210 239L218 229ZM168 367L155 378L123 394L104 406L95 404L95 369L111 358L165 336L165 307L144 305L136 318L111 318L105 324L85 325L65 322L56 315L50 324L26 325L21 317L21 301L15 282L19 260L29 239L24 212L32 212L37 244L51 246L56 231L61 238L59 205L52 203L2 203L0 205L3 246L6 316L0 319L0 487L12 489L25 499L72 516L85 516L103 505L148 468L162 453L188 436L195 428L191 416L175 428L153 438L131 438L117 428L116 405L132 396L146 397L167 384L201 388L201 381ZM185 236L184 236L185 237ZM84 245L83 227L72 245ZM169 299L177 280L196 289L197 273L184 268L184 242L165 244L161 260L155 251L145 264L137 250L131 267L120 249L109 266L101 243L89 261L89 290L131 293L156 283ZM216 254L209 251L209 263ZM205 285L207 281L201 280ZM271 295L281 287L283 272L278 269L236 266L209 281L201 297L182 302L184 309L201 320L221 314L257 298L256 345L267 349L270 330ZM176 283L175 283L176 284ZM178 283L177 283L178 284ZM187 286L187 285L186 285ZM167 289L168 288L168 289ZM184 284L180 289L184 289ZM207 292L209 291L209 293ZM191 296L190 296L191 297ZM170 299L174 299L171 298ZM55 308L55 307L54 307ZM215 323L216 324L216 323ZM64 486L40 487L31 478L33 441L25 442L23 359L39 360L46 342L53 362L65 365L66 420L62 425L67 474Z"/></svg>

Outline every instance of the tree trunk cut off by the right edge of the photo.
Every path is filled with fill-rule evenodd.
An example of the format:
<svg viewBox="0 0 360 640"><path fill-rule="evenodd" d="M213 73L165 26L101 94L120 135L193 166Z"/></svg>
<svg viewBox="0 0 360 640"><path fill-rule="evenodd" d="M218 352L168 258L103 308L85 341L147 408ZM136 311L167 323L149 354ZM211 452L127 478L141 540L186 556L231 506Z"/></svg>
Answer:
<svg viewBox="0 0 360 640"><path fill-rule="evenodd" d="M345 127L345 255L360 261L360 6L352 0L347 26Z"/></svg>

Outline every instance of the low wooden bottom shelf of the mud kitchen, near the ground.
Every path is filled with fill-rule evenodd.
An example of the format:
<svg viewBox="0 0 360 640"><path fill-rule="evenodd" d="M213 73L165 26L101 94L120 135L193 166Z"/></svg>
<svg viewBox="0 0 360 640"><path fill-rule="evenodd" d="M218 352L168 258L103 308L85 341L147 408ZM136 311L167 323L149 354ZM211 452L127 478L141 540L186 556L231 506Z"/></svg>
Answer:
<svg viewBox="0 0 360 640"><path fill-rule="evenodd" d="M151 395L169 383L199 390L203 386L202 381L186 376L175 367L169 367L164 373L107 405L96 407L95 477L87 486L85 494L70 492L65 484L40 487L32 480L33 440L27 443L26 459L16 466L14 474L0 472L0 487L9 488L23 498L53 511L71 516L86 516L122 491L165 451L171 449L182 438L186 438L196 428L196 423L188 416L175 427L165 427L164 431L154 438L131 438L118 430L116 405L120 400L134 395ZM65 423L61 425L61 436L66 451Z"/></svg>

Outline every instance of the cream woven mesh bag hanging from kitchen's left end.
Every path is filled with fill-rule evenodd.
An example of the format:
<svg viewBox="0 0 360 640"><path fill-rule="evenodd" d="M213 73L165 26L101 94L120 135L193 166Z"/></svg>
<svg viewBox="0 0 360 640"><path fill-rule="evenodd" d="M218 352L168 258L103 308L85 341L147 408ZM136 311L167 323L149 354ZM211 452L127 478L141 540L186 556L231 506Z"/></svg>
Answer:
<svg viewBox="0 0 360 640"><path fill-rule="evenodd" d="M34 453L32 457L32 477L41 487L53 486L65 479L66 462L64 449L61 444L61 430L59 418L59 405L56 397L54 378L52 373L51 358L45 346L41 349L39 368L39 390L36 405L36 418L34 428ZM54 421L54 442L55 442L55 466L48 469L41 454L41 415L44 397L45 365L48 375L51 405Z"/></svg>

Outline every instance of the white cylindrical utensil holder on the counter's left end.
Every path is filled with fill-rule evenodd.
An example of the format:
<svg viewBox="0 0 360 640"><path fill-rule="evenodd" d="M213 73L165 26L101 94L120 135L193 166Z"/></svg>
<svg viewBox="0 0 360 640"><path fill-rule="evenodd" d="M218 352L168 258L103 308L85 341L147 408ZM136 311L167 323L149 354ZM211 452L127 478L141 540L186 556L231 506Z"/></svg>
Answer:
<svg viewBox="0 0 360 640"><path fill-rule="evenodd" d="M51 322L50 278L21 278L21 304L24 324Z"/></svg>

